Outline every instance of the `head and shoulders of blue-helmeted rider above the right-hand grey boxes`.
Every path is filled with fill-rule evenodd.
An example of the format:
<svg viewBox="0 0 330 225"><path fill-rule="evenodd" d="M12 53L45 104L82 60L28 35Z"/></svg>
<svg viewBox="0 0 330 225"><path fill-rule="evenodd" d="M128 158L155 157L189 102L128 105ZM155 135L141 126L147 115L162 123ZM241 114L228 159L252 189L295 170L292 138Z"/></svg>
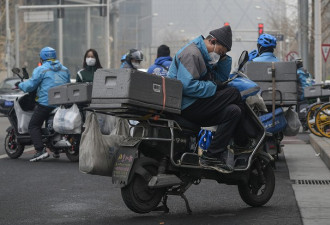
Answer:
<svg viewBox="0 0 330 225"><path fill-rule="evenodd" d="M262 34L257 42L258 56L252 59L253 62L278 62L274 55L276 38L270 34Z"/></svg>

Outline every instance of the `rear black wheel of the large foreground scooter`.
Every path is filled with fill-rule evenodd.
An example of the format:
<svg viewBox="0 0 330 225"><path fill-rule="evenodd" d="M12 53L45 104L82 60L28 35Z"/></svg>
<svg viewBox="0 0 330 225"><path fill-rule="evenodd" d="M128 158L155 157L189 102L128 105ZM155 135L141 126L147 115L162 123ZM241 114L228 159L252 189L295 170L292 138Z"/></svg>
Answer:
<svg viewBox="0 0 330 225"><path fill-rule="evenodd" d="M153 165L144 166L152 175L157 175L157 167ZM136 213L148 213L154 210L162 197L165 189L150 189L148 182L139 174L133 175L132 181L121 189L121 196L126 206Z"/></svg>

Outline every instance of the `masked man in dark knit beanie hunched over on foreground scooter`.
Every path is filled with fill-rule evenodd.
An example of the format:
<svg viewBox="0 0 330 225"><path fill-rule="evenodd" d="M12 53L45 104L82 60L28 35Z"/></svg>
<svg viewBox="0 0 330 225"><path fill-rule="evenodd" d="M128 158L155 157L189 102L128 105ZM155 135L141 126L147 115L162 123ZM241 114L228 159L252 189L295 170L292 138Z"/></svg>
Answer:
<svg viewBox="0 0 330 225"><path fill-rule="evenodd" d="M222 83L231 69L231 57L226 55L231 46L230 26L212 30L206 38L199 36L180 49L169 69L169 77L183 84L181 115L200 126L218 125L200 158L201 165L229 171L234 167L234 154L227 146L237 136L245 111L239 91Z"/></svg>

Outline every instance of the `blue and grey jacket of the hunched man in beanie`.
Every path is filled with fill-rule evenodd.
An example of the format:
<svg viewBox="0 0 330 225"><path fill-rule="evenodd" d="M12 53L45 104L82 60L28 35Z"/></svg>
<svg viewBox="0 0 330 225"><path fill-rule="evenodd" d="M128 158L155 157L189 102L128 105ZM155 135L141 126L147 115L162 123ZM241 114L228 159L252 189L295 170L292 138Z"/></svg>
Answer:
<svg viewBox="0 0 330 225"><path fill-rule="evenodd" d="M175 55L170 66L168 76L182 82L182 105L185 109L197 99L211 97L215 94L217 86L208 79L208 71L212 71L214 80L225 81L231 70L231 57L220 60L216 66L209 64L209 57L204 37L199 36Z"/></svg>

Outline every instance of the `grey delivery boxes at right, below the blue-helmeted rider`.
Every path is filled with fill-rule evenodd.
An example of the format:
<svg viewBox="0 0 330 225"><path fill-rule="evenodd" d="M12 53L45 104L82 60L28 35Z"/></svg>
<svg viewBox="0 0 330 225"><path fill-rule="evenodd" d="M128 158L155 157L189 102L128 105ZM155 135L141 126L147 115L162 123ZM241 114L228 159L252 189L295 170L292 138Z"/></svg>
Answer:
<svg viewBox="0 0 330 225"><path fill-rule="evenodd" d="M297 66L295 62L274 62L276 105L297 104ZM255 81L266 105L272 104L272 62L250 62L246 65L246 75Z"/></svg>

